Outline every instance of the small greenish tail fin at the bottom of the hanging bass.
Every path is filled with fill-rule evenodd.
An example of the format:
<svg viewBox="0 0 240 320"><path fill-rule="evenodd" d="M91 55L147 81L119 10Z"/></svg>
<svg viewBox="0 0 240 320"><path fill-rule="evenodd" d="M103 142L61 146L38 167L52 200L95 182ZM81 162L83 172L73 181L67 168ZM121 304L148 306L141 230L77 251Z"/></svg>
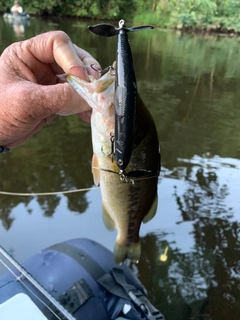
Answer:
<svg viewBox="0 0 240 320"><path fill-rule="evenodd" d="M130 259L138 263L141 255L140 242L131 243L129 245L120 245L117 242L114 246L114 260L118 264L122 264L126 259Z"/></svg>

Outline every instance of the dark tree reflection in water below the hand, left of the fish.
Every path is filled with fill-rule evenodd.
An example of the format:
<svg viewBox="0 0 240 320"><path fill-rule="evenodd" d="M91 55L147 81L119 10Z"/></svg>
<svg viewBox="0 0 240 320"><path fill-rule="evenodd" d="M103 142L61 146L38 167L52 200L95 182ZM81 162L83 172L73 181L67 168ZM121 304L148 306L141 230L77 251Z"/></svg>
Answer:
<svg viewBox="0 0 240 320"><path fill-rule="evenodd" d="M57 126L56 132L53 130L55 126ZM70 146L68 139L72 143ZM93 180L89 161L92 149L89 146L91 146L91 135L88 124L84 124L77 117L55 119L39 134L18 147L18 150L12 150L1 158L0 190L38 193L90 188ZM41 152L43 148L48 152ZM86 211L88 207L86 191L65 196L70 211L78 213ZM34 198L34 196L1 195L0 219L5 229L10 229L14 221L14 218L10 217L12 209L24 204L27 210L27 206ZM51 217L61 197L36 196L36 200L44 215Z"/></svg>

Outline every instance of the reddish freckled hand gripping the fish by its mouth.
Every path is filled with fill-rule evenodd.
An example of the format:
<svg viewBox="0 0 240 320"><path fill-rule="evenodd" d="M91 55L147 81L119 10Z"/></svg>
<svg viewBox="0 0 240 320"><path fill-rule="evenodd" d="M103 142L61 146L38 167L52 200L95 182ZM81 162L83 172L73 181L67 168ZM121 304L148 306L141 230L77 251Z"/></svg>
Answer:
<svg viewBox="0 0 240 320"><path fill-rule="evenodd" d="M91 109L57 75L71 73L88 81L99 63L75 46L67 34L52 31L16 42L0 56L0 146L12 149L57 115L78 114L89 121Z"/></svg>

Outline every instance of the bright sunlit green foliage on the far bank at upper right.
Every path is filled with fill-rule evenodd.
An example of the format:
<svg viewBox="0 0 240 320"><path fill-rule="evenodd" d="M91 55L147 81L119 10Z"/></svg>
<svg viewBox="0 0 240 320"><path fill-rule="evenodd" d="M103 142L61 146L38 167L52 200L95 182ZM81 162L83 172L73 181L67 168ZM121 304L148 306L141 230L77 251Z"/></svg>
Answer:
<svg viewBox="0 0 240 320"><path fill-rule="evenodd" d="M197 27L240 30L240 2L237 0L153 0L156 5L148 6L148 9L144 0L140 2L140 7L145 8L148 14L145 19L144 13L138 12L138 15L134 16L134 21L138 23L153 23L180 29Z"/></svg>

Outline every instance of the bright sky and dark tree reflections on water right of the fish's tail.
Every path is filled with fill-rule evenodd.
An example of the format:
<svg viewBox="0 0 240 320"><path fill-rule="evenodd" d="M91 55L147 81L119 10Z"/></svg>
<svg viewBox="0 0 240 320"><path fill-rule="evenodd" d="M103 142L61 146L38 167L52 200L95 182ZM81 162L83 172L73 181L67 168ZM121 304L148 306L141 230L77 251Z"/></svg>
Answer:
<svg viewBox="0 0 240 320"><path fill-rule="evenodd" d="M172 192L175 203L164 201L168 218L143 238L138 270L167 319L237 319L239 169L239 160L195 156L164 173L159 190ZM160 261L167 246L168 257Z"/></svg>

